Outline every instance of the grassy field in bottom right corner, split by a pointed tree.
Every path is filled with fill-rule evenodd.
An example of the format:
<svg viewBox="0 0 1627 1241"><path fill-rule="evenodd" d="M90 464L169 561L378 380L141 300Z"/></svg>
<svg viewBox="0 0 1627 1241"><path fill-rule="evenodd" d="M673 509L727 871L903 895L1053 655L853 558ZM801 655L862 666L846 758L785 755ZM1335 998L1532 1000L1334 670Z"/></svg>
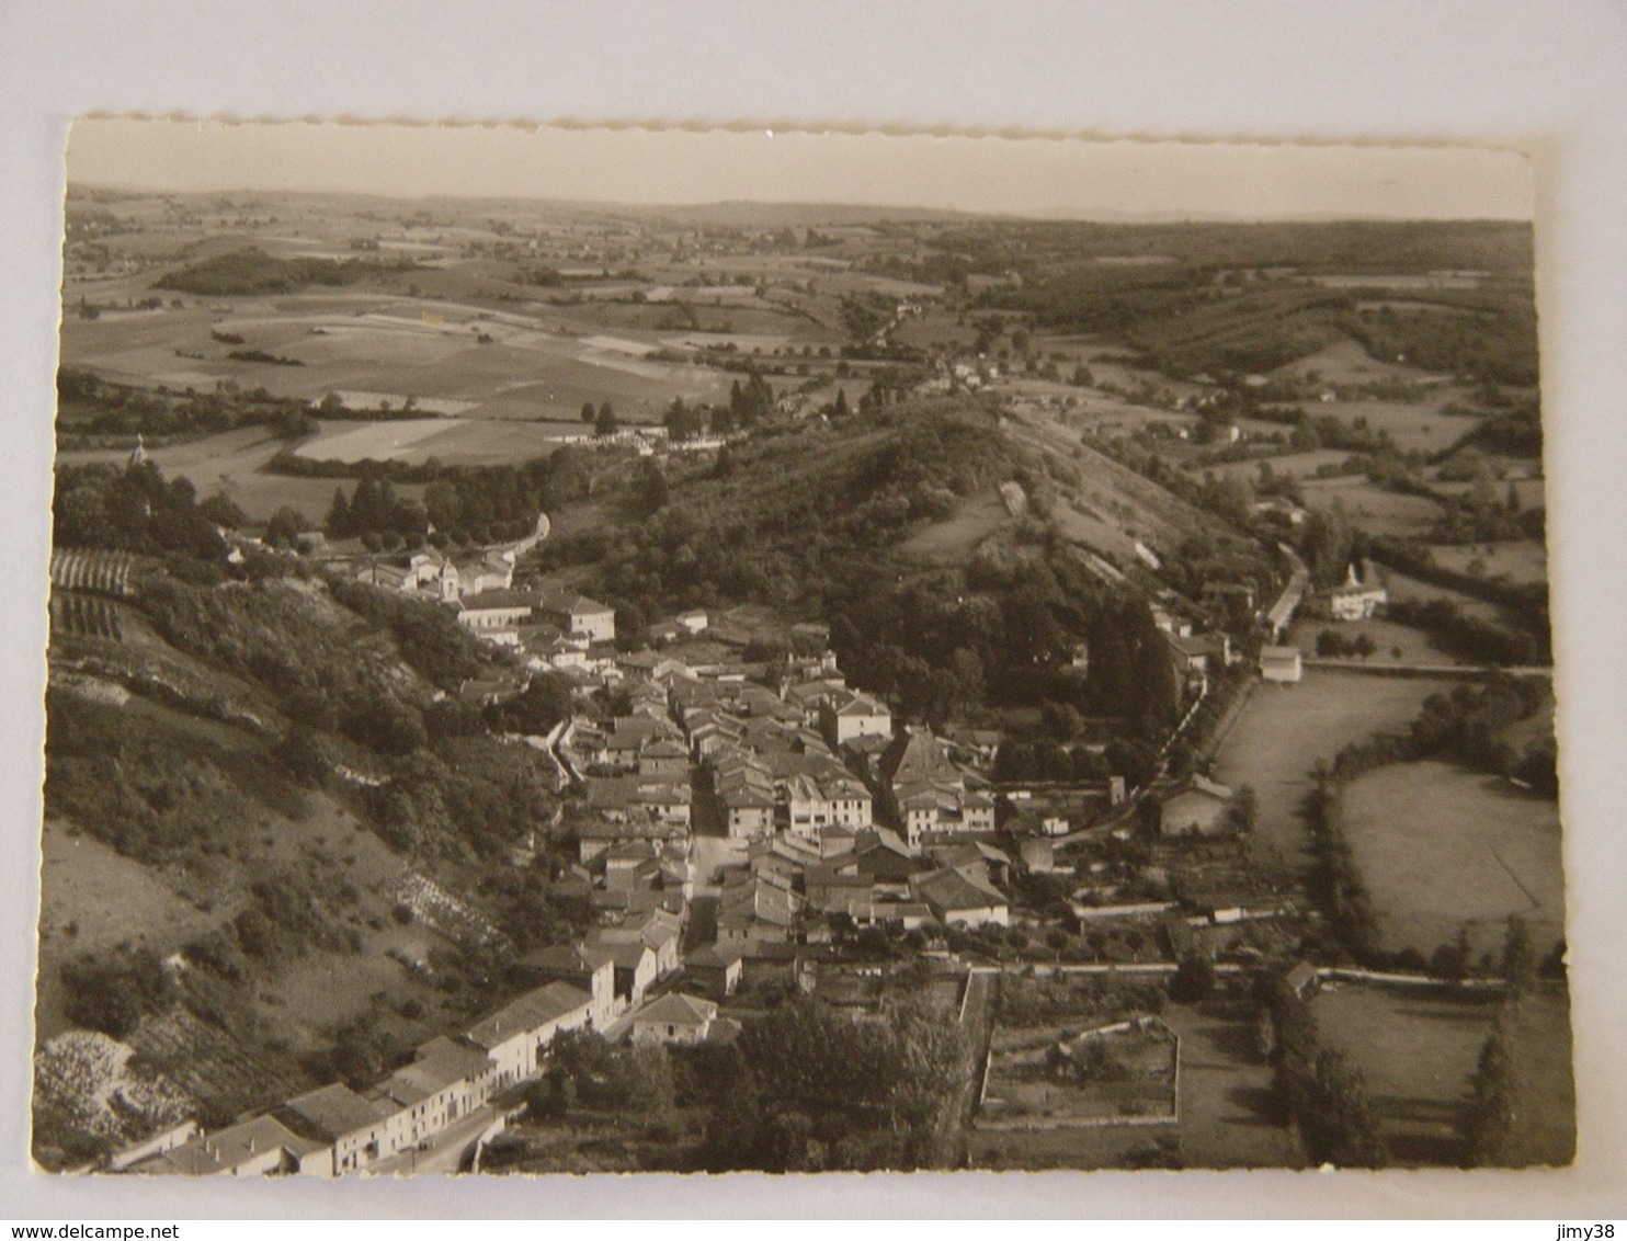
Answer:
<svg viewBox="0 0 1627 1241"><path fill-rule="evenodd" d="M1461 1158L1458 1108L1500 1000L1451 992L1336 986L1311 1000L1326 1046L1344 1051L1398 1163ZM1564 992L1538 991L1515 1015L1515 1056L1524 1073L1516 1161L1564 1165L1575 1152L1570 1013Z"/></svg>

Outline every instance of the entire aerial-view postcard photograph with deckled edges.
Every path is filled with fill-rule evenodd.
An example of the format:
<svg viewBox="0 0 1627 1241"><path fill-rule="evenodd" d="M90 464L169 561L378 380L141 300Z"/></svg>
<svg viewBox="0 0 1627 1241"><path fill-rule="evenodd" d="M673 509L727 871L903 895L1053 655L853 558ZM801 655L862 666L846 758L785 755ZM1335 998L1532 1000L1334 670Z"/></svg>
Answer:
<svg viewBox="0 0 1627 1241"><path fill-rule="evenodd" d="M1536 203L80 119L34 1165L1570 1165Z"/></svg>

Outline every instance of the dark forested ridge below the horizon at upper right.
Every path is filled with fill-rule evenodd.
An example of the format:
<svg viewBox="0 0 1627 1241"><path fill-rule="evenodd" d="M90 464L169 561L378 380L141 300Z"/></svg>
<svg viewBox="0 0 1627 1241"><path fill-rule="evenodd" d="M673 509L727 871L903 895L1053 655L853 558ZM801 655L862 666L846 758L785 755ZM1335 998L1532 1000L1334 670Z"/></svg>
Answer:
<svg viewBox="0 0 1627 1241"><path fill-rule="evenodd" d="M1066 332L1110 332L1137 345L1173 376L1222 371L1264 372L1302 358L1316 343L1352 335L1375 358L1425 369L1536 382L1536 306L1531 296L1529 233L1476 224L1455 229L1383 224L1145 226L1116 237L1116 254L1155 254L1167 262L1121 265L1093 228L1075 236L962 239L976 246L973 270L1015 268L1020 283L981 293L975 303L1017 311ZM1357 236L1360 234L1360 236ZM934 239L949 246L947 237ZM1280 249L1272 249L1280 246ZM1360 309L1357 294L1300 278L1241 280L1230 290L1220 268L1308 267L1323 272L1430 272L1455 267L1445 254L1476 254L1468 267L1503 272L1513 280L1474 293L1430 293L1466 314ZM991 267L992 263L1004 263ZM1310 343L1308 343L1310 342Z"/></svg>

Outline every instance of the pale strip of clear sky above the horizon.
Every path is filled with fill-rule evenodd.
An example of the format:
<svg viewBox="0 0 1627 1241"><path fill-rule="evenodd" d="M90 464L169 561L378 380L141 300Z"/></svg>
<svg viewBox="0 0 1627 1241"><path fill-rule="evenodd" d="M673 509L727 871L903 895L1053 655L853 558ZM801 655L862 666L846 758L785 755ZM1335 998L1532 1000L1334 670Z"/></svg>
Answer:
<svg viewBox="0 0 1627 1241"><path fill-rule="evenodd" d="M818 202L1098 220L1533 215L1521 153L1425 145L94 117L73 125L68 181L172 192Z"/></svg>

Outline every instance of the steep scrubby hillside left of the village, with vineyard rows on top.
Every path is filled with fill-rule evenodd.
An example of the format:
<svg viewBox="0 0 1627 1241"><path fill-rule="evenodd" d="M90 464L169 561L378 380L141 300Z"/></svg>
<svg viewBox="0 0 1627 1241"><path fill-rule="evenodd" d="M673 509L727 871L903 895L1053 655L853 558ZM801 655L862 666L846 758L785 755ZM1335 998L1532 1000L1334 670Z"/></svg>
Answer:
<svg viewBox="0 0 1627 1241"><path fill-rule="evenodd" d="M511 951L571 934L547 862L511 860L547 834L555 773L444 695L493 672L449 615L342 581L140 569L133 599L50 644L47 1166L177 1109L223 1124L382 1072L485 1007ZM151 1106L109 1111L117 1082Z"/></svg>

